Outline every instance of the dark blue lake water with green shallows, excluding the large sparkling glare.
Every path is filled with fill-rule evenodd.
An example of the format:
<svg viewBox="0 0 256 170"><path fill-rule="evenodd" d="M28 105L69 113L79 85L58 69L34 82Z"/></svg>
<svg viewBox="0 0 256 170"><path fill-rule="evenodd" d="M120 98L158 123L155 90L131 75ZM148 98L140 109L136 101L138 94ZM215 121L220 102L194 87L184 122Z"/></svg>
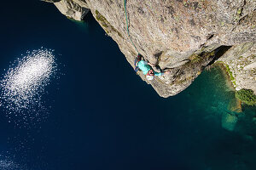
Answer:
<svg viewBox="0 0 256 170"><path fill-rule="evenodd" d="M256 168L255 108L230 111L234 93L219 69L162 99L91 14L82 24L49 3L2 5L0 73L44 47L55 50L61 74L43 96L49 114L31 127L0 110L0 169Z"/></svg>

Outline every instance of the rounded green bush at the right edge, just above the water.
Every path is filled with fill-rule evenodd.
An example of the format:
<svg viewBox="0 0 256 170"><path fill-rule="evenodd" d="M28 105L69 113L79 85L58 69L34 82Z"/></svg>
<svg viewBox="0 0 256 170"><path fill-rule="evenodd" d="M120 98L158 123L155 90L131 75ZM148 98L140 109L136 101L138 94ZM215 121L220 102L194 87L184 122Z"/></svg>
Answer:
<svg viewBox="0 0 256 170"><path fill-rule="evenodd" d="M255 105L256 104L256 95L253 94L253 90L251 89L241 89L236 92L236 98L240 99L243 103L247 105Z"/></svg>

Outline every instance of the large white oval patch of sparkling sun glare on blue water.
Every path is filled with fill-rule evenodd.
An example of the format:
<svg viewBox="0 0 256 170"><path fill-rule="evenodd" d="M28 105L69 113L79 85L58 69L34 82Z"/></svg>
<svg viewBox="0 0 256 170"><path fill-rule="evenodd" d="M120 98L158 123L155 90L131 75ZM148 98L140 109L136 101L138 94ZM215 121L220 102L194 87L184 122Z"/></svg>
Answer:
<svg viewBox="0 0 256 170"><path fill-rule="evenodd" d="M47 49L27 52L10 66L0 83L1 107L10 121L14 121L13 116L18 117L16 123L44 117L39 116L47 110L42 94L56 71L55 56Z"/></svg>

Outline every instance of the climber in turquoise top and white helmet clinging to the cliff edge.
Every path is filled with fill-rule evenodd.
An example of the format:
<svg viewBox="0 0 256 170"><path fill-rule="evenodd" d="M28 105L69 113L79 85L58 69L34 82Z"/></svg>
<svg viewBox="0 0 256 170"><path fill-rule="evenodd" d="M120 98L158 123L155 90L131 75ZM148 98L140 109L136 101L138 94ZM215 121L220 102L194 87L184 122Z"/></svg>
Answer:
<svg viewBox="0 0 256 170"><path fill-rule="evenodd" d="M143 74L146 75L148 80L153 80L154 76L162 76L162 75L167 75L170 73L170 71L166 72L155 72L152 69L153 64L150 64L149 62L146 62L142 60L142 55L138 54L137 58L135 59L135 71L141 70L143 71Z"/></svg>

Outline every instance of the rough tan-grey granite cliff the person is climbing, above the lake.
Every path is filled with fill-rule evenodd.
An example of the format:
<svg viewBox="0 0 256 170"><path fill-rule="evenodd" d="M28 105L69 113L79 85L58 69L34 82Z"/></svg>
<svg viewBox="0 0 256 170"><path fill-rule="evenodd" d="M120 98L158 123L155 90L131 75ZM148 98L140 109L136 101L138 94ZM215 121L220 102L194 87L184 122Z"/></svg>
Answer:
<svg viewBox="0 0 256 170"><path fill-rule="evenodd" d="M236 88L255 92L255 0L126 1L129 31L137 49L127 35L123 0L61 0L55 5L75 20L90 8L132 66L140 53L157 65L155 71L170 70L170 75L152 82L139 73L162 97L183 91L218 58L234 68ZM227 53L218 53L227 46ZM241 56L247 61L240 61Z"/></svg>

